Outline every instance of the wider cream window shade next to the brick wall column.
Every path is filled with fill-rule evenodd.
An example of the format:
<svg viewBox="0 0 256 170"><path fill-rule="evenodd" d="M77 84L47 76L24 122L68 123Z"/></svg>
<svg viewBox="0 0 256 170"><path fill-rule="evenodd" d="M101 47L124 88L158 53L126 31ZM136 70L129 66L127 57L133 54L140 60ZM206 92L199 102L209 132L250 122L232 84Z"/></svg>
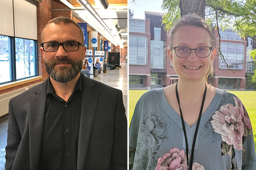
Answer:
<svg viewBox="0 0 256 170"><path fill-rule="evenodd" d="M14 0L15 37L37 40L36 6L25 0Z"/></svg>

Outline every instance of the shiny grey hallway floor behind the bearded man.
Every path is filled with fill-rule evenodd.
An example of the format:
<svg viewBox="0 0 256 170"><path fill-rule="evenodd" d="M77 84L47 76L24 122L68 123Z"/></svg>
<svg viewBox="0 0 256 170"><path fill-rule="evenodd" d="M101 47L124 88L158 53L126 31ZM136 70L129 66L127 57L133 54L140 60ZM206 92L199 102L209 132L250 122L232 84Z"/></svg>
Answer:
<svg viewBox="0 0 256 170"><path fill-rule="evenodd" d="M127 114L127 64L121 63L121 67L114 70L107 70L103 75L95 77L95 80L107 84L111 87L118 88L123 92L123 103ZM0 119L0 170L5 169L5 146L7 139L7 124L9 116Z"/></svg>

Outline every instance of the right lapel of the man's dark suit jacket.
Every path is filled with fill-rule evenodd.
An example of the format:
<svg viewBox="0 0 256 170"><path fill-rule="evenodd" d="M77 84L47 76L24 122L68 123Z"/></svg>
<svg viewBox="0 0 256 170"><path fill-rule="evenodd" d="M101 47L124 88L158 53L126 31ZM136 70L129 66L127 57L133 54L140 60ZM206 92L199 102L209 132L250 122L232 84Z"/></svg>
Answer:
<svg viewBox="0 0 256 170"><path fill-rule="evenodd" d="M98 101L98 90L92 89L94 83L87 77L83 77L83 95L81 106L81 118L78 140L77 169L83 169L86 152L92 132L95 111Z"/></svg>

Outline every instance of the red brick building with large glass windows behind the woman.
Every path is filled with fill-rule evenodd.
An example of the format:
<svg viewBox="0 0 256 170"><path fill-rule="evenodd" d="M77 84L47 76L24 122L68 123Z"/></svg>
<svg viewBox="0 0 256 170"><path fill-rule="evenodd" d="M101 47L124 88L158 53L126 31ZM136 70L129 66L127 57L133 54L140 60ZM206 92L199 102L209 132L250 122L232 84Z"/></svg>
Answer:
<svg viewBox="0 0 256 170"><path fill-rule="evenodd" d="M161 22L163 15L145 12L145 19L131 17L129 19L130 89L161 88L178 81L178 75L167 54L170 31L166 32L163 29ZM215 36L216 47L218 47L219 36L216 30ZM246 88L245 74L253 71L251 68L254 63L247 63L249 58L246 53L248 46L253 48L253 42L251 39L239 37L230 29L220 29L220 36L221 52L231 67L229 69L225 66L216 48L217 53L213 61L214 75L209 77L209 80L213 86L218 88L244 90Z"/></svg>

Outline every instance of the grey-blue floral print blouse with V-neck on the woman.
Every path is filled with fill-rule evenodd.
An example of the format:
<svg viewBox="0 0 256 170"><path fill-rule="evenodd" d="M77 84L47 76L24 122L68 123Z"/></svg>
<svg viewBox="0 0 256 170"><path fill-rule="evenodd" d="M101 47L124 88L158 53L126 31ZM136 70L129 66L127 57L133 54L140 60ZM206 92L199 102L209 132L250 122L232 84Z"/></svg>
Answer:
<svg viewBox="0 0 256 170"><path fill-rule="evenodd" d="M190 127L185 122L189 158L196 124ZM180 116L166 100L164 89L143 94L129 128L129 169L187 170L185 151ZM256 170L251 121L235 95L216 88L201 116L190 169Z"/></svg>

